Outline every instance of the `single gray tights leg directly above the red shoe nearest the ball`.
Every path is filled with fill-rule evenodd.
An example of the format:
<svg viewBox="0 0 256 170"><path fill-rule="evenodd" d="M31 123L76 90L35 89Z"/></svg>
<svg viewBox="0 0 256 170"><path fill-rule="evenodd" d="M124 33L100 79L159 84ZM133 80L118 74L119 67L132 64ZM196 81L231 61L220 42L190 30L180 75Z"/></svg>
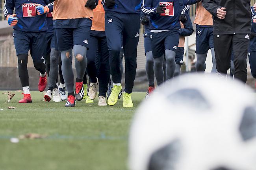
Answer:
<svg viewBox="0 0 256 170"><path fill-rule="evenodd" d="M146 73L148 78L148 86L154 86L154 58L152 51L146 53Z"/></svg>

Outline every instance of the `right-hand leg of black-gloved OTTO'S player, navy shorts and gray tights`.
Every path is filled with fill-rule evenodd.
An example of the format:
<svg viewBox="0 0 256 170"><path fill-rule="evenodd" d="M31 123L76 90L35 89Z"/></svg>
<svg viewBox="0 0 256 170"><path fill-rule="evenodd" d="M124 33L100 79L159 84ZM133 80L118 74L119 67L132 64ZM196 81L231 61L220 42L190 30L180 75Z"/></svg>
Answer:
<svg viewBox="0 0 256 170"><path fill-rule="evenodd" d="M176 67L175 56L180 40L180 34L178 31L166 31L165 38L165 58L166 58L166 73L167 80L171 80L174 77L174 71Z"/></svg>

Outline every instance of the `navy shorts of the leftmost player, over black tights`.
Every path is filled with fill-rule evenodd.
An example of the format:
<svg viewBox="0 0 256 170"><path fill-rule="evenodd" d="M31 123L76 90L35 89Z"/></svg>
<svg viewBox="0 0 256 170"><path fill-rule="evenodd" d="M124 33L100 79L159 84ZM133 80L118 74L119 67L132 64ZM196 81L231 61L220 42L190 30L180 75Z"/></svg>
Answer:
<svg viewBox="0 0 256 170"><path fill-rule="evenodd" d="M45 61L44 54L47 42L46 32L30 33L14 30L13 40L17 56L19 54L28 54L28 51L30 50L33 61Z"/></svg>

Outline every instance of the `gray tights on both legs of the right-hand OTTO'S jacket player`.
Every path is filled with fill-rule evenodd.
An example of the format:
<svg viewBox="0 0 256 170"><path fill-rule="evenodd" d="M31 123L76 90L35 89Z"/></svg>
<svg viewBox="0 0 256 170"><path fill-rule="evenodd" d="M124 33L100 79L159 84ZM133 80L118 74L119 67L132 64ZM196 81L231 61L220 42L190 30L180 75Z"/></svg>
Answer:
<svg viewBox="0 0 256 170"><path fill-rule="evenodd" d="M166 74L167 80L171 80L174 77L175 70L175 55L176 52L172 50L165 50L165 58L166 58ZM164 71L163 71L163 56L159 58L154 58L154 72L156 76L156 81L158 85L161 85L164 82Z"/></svg>

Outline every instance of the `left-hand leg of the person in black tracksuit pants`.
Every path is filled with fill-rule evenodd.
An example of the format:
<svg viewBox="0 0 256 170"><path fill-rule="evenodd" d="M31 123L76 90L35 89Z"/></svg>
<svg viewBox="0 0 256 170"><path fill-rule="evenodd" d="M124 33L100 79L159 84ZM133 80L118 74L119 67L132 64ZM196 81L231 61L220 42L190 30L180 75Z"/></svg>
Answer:
<svg viewBox="0 0 256 170"><path fill-rule="evenodd" d="M214 51L216 58L217 73L220 78L226 77L230 69L230 58L233 35L214 35Z"/></svg>

